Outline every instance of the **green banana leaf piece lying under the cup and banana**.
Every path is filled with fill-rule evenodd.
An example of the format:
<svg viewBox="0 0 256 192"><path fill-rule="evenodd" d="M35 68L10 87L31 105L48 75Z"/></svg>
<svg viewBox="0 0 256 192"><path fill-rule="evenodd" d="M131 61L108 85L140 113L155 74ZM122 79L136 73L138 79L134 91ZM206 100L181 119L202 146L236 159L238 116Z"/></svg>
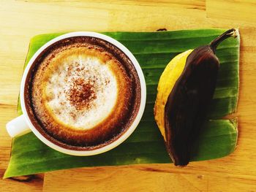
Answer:
<svg viewBox="0 0 256 192"><path fill-rule="evenodd" d="M121 145L107 153L78 157L59 153L43 144L33 133L15 137L12 141L10 164L4 178L82 166L115 166L125 164L164 164L171 160L162 136L154 123L154 100L159 77L167 63L178 53L206 45L225 29L197 29L161 32L106 32L124 44L138 59L146 78L146 110L135 132ZM61 34L42 34L31 39L31 56L50 39ZM200 137L192 146L192 161L202 161L229 155L236 148L237 120L224 120L236 112L239 82L239 38L227 39L217 49L221 66L208 120ZM26 66L25 64L25 66ZM18 104L18 114L22 114Z"/></svg>

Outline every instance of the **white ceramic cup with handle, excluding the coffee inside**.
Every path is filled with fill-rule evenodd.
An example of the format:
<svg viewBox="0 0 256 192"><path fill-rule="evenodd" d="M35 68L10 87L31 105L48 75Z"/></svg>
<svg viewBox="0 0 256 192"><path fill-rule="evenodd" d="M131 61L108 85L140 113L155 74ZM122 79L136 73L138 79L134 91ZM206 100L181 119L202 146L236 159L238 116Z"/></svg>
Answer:
<svg viewBox="0 0 256 192"><path fill-rule="evenodd" d="M132 61L132 64L135 66L135 69L137 70L138 77L140 79L140 89L141 89L141 96L140 96L140 108L138 110L138 115L136 116L135 120L133 121L132 125L128 128L124 134L121 135L116 141L111 142L109 145L105 145L101 148L97 148L95 150L69 150L64 147L60 147L59 145L54 144L53 142L50 142L50 140L46 139L42 134L37 131L37 128L33 126L31 123L31 120L29 118L29 115L26 111L26 100L24 99L24 88L25 88L25 82L26 77L29 73L29 69L31 68L32 64L34 63L37 56L42 53L43 50L45 50L46 47L52 45L55 42L58 42L61 39L66 39L68 37L97 37L99 39L103 39L107 42L110 42L111 44L118 47L120 50L122 50L125 55L128 56L128 58ZM132 53L127 49L127 47L124 47L120 42L116 41L116 39L113 39L111 37L108 37L104 34L98 34L95 32L89 32L89 31L78 31L78 32L72 32L68 34L61 35L59 37L56 37L55 39L50 40L49 42L45 43L39 50L37 50L36 53L34 53L33 57L30 59L29 64L26 66L26 69L23 72L23 77L21 80L20 85L20 104L21 109L23 112L23 115L20 115L18 118L15 118L11 120L9 123L7 123L7 132L10 134L10 137L16 137L20 136L22 134L26 134L30 131L33 131L33 133L40 139L42 142L44 142L49 147L53 148L54 150L58 150L61 153L67 153L69 155L97 155L99 153L104 153L108 150L113 149L114 147L120 145L122 142L124 142L125 139L127 139L133 131L135 131L135 128L138 126L138 123L140 122L140 119L142 118L145 105L146 105L146 82L144 79L143 72L140 68L140 65L138 64L138 61L136 60L135 56L132 55Z"/></svg>

